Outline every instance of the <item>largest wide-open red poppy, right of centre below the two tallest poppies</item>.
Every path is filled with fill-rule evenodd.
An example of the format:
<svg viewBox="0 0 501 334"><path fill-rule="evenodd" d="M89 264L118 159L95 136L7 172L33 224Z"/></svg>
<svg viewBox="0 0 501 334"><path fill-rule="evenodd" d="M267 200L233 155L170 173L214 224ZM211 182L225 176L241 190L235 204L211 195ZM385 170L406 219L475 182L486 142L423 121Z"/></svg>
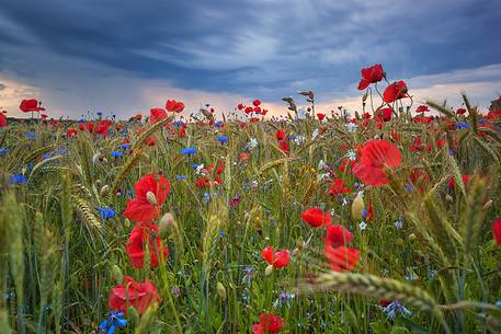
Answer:
<svg viewBox="0 0 501 334"><path fill-rule="evenodd" d="M356 177L366 185L389 183L385 169L397 169L402 161L398 148L387 140L368 140L362 149L361 161L353 168Z"/></svg>

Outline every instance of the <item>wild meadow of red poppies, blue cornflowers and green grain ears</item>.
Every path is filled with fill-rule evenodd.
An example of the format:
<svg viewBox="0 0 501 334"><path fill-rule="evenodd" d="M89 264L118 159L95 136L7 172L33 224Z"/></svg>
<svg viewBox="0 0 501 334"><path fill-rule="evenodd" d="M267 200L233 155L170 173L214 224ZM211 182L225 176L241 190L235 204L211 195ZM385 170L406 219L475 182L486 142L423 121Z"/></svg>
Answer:
<svg viewBox="0 0 501 334"><path fill-rule="evenodd" d="M501 99L358 89L0 113L0 333L501 333Z"/></svg>

